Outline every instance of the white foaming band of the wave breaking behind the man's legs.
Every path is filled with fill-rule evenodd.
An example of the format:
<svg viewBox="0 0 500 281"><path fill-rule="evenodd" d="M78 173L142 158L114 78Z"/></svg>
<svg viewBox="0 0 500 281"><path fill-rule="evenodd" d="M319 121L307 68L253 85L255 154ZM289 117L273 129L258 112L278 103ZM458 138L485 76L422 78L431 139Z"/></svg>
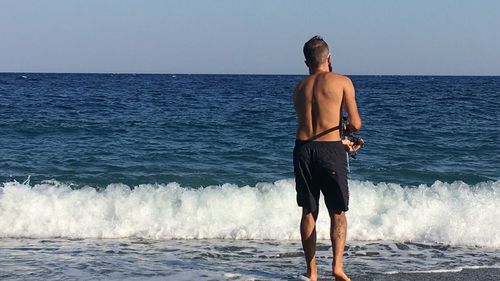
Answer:
<svg viewBox="0 0 500 281"><path fill-rule="evenodd" d="M500 181L432 186L351 181L348 239L500 247ZM300 239L293 180L200 189L144 184L0 186L0 237ZM318 238L329 239L320 206Z"/></svg>

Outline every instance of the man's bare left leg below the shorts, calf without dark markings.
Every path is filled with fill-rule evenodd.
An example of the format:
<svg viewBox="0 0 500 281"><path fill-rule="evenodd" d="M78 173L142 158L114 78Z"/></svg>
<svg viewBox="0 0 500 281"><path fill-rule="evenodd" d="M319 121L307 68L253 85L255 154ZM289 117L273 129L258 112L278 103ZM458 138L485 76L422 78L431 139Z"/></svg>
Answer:
<svg viewBox="0 0 500 281"><path fill-rule="evenodd" d="M300 235L302 237L302 248L306 257L307 277L316 281L316 219L318 212L312 213L302 208L302 220L300 221Z"/></svg>

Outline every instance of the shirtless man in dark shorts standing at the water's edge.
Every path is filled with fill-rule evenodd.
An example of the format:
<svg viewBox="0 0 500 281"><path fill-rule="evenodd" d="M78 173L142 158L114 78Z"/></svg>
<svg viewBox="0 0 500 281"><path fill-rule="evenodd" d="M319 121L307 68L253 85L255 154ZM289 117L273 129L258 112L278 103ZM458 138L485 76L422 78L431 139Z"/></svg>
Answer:
<svg viewBox="0 0 500 281"><path fill-rule="evenodd" d="M309 76L300 81L293 94L297 113L297 134L293 166L297 203L302 207L300 234L307 264L307 278L317 280L316 219L320 191L330 214L332 240L332 275L335 280L349 280L344 273L342 256L346 239L349 191L347 187L346 150L361 144L341 140L342 110L347 111L347 131L361 128L354 86L346 76L330 72L330 51L319 36L304 45Z"/></svg>

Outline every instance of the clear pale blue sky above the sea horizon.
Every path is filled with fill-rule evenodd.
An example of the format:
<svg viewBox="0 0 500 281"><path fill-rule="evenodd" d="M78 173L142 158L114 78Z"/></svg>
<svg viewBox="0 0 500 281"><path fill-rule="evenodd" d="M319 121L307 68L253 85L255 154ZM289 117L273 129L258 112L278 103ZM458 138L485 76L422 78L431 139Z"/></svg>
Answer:
<svg viewBox="0 0 500 281"><path fill-rule="evenodd" d="M0 0L0 72L500 75L498 0Z"/></svg>

